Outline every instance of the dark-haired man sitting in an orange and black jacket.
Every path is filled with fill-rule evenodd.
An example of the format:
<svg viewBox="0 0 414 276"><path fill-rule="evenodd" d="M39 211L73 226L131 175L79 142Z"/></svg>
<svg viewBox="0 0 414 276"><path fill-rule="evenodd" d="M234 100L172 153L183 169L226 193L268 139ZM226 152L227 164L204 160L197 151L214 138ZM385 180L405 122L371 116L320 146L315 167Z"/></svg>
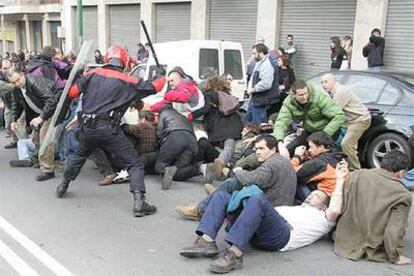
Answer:
<svg viewBox="0 0 414 276"><path fill-rule="evenodd" d="M305 146L297 147L292 158L298 178L296 199L301 202L314 190L331 196L336 183L336 164L346 157L336 152L335 142L323 131L309 135L307 142L309 149L306 150Z"/></svg>

